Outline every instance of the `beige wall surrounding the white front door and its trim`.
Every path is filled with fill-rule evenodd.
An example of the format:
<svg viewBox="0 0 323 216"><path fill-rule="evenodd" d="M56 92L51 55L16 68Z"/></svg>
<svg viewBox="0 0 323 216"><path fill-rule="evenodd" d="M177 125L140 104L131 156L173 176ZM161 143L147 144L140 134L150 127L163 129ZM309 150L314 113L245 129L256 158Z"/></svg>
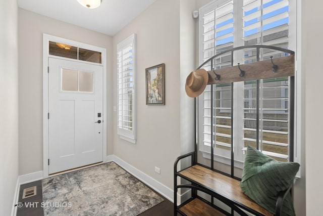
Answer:
<svg viewBox="0 0 323 216"><path fill-rule="evenodd" d="M112 37L23 9L19 13L19 175L43 170L42 34L107 51L107 101L112 101ZM107 106L107 153L112 154L112 106Z"/></svg>

